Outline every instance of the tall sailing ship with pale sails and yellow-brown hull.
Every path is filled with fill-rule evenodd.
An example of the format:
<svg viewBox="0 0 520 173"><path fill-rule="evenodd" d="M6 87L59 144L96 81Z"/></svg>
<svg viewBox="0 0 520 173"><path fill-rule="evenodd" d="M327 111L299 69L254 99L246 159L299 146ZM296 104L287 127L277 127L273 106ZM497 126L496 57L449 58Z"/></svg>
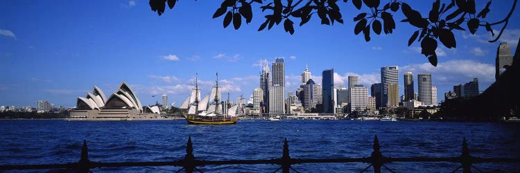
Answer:
<svg viewBox="0 0 520 173"><path fill-rule="evenodd" d="M196 77L195 89L192 89L191 95L182 102L180 109L189 124L227 125L236 123L239 120L239 116L236 115L236 108L238 105L231 106L229 104L223 104L220 99L221 95L220 89L218 89L218 73L216 86L211 87L211 94L206 95L202 100L200 100L200 89L198 89L198 80ZM229 96L227 103L229 103ZM225 105L224 108L223 105Z"/></svg>

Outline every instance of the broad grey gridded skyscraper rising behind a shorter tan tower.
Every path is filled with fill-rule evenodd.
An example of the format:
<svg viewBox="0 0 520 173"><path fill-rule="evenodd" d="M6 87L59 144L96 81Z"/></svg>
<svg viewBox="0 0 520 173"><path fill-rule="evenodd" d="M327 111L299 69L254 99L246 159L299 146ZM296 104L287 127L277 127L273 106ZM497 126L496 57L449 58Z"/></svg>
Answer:
<svg viewBox="0 0 520 173"><path fill-rule="evenodd" d="M397 66L381 67L381 84L381 107L388 107L388 100L392 100L392 102L397 100L399 104L399 68ZM397 84L397 94L388 93L388 84ZM393 98L389 98L390 95Z"/></svg>

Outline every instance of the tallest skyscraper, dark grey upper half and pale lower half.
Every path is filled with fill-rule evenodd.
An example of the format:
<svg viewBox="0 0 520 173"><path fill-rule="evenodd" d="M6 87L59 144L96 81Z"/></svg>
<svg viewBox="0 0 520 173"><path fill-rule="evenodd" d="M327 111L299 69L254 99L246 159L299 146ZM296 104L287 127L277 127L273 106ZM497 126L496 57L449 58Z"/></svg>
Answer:
<svg viewBox="0 0 520 173"><path fill-rule="evenodd" d="M283 58L272 63L272 85L269 87L269 113L273 115L285 113L285 65Z"/></svg>

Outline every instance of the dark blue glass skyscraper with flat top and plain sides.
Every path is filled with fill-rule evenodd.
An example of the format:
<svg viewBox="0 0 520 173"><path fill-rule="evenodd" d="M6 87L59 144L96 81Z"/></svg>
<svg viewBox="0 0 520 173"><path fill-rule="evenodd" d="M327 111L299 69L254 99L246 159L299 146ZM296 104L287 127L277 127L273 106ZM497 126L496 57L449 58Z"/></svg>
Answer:
<svg viewBox="0 0 520 173"><path fill-rule="evenodd" d="M322 73L323 113L334 113L334 69L324 70Z"/></svg>

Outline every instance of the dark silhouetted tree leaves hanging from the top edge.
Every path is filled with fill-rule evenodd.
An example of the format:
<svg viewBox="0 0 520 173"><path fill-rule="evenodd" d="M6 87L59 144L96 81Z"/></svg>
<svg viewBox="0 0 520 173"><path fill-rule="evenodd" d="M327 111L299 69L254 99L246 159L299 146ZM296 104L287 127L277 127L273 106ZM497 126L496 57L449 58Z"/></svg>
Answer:
<svg viewBox="0 0 520 173"><path fill-rule="evenodd" d="M150 0L150 8L157 12L157 15L162 15L166 9L173 8L178 0ZM334 22L343 24L343 15L340 12L340 6L347 3L348 0L223 0L220 7L214 12L213 18L221 17L224 14L223 26L227 28L233 21L233 27L238 30L242 24L242 18L245 19L245 24L252 21L253 13L252 6L260 6L262 12L268 12L265 15L264 21L259 31L268 30L272 26L279 25L284 21L284 30L286 33L293 35L295 33L294 21L300 18L300 26L307 24L311 17L318 16L320 23L325 25L333 25ZM495 39L489 42L496 42L502 35L503 30L508 25L508 21L517 5L518 0L514 0L512 8L508 15L501 21L489 22L485 20L487 13L490 11L492 0L489 0L485 8L477 13L475 0L448 0L447 3L441 3L440 0L433 1L431 10L427 15L422 15L421 12L414 10L408 3L391 0L384 5L380 0L352 0L352 4L361 10L361 7L366 6L370 12L361 12L356 17L356 26L354 27L354 34L359 35L363 33L366 42L370 42L370 30L376 35L381 35L381 31L385 34L391 34L396 27L396 23L392 14L399 12L399 9L404 14L406 19L401 22L408 23L417 28L408 39L408 46L415 41L420 42L421 53L428 58L428 61L437 66L437 40L447 48L456 48L457 42L452 30L469 30L469 33L475 34L480 26L495 35L492 26L502 25L500 33ZM263 6L261 6L263 5Z"/></svg>

